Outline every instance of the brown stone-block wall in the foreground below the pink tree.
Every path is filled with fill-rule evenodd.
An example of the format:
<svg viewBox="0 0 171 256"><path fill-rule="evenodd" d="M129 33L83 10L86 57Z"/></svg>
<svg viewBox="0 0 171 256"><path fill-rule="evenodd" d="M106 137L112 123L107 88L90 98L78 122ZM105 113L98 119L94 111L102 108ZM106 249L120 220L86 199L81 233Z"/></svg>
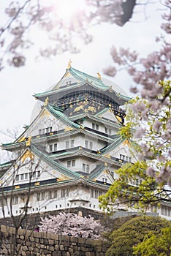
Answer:
<svg viewBox="0 0 171 256"><path fill-rule="evenodd" d="M61 236L19 229L16 236L18 256L104 256L107 242ZM10 255L11 245L15 240L15 228L0 226L0 256Z"/></svg>

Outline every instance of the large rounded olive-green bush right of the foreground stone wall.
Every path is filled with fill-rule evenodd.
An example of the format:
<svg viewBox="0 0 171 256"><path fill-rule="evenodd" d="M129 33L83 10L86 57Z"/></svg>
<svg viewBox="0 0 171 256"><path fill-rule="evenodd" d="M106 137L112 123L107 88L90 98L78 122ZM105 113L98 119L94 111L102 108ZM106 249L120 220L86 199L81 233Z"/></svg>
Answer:
<svg viewBox="0 0 171 256"><path fill-rule="evenodd" d="M133 255L133 246L142 243L150 231L151 234L158 236L161 229L165 227L171 227L170 222L166 219L147 216L135 217L111 233L110 241L112 242L107 250L107 256Z"/></svg>

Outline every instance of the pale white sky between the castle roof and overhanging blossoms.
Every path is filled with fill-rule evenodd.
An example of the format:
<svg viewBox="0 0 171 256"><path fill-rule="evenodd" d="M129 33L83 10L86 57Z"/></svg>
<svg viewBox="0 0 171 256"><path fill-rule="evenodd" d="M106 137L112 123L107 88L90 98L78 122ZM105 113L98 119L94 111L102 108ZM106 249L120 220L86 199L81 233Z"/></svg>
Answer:
<svg viewBox="0 0 171 256"><path fill-rule="evenodd" d="M4 2L6 1L0 2L1 25L3 24ZM142 57L157 49L155 38L161 33L159 28L161 7L157 2L145 9L144 7L136 9L132 20L123 27L107 23L91 27L89 32L94 40L89 45L80 45L80 53L64 53L51 59L36 59L35 49L32 49L28 52L24 67L5 67L0 72L0 131L19 129L19 127L30 124L36 104L32 95L46 91L56 84L64 75L69 59L72 60L72 67L75 69L94 76L100 72L103 80L107 76L102 74L102 69L113 64L110 56L112 45L137 50ZM38 45L41 45L39 32L34 37L36 41L38 40ZM129 92L132 79L126 72L119 72L115 78L108 77L108 79L120 86L125 94L132 96ZM0 134L0 143L10 140L7 136Z"/></svg>

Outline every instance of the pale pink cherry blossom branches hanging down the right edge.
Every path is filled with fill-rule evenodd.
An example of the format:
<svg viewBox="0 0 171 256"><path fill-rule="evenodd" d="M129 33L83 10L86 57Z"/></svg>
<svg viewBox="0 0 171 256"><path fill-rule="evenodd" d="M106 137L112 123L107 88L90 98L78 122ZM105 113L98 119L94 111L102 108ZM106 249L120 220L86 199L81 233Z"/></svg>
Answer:
<svg viewBox="0 0 171 256"><path fill-rule="evenodd" d="M139 159L148 163L147 174L159 183L167 181L171 186L171 1L166 0L163 5L161 29L165 36L156 39L161 48L139 58L134 50L117 50L113 46L110 53L116 66L110 66L104 72L114 76L121 67L132 76L135 86L131 91L140 96L129 102L126 127L121 129L121 135L139 144Z"/></svg>

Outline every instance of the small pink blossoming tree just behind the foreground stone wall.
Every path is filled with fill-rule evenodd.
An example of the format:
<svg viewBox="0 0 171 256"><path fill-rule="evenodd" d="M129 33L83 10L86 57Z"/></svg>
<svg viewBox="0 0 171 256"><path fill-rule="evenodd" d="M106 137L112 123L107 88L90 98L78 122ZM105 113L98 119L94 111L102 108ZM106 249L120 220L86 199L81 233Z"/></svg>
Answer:
<svg viewBox="0 0 171 256"><path fill-rule="evenodd" d="M99 239L104 231L104 227L91 216L80 217L77 214L60 212L56 216L41 219L40 232Z"/></svg>

